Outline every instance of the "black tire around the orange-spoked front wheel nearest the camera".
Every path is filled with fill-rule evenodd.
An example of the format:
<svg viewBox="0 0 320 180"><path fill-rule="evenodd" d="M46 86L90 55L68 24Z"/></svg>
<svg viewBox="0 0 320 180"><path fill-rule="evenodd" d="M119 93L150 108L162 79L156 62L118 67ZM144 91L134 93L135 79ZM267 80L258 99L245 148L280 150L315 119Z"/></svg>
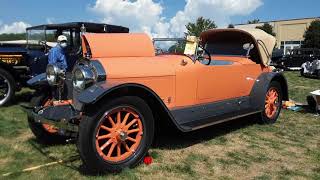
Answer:
<svg viewBox="0 0 320 180"><path fill-rule="evenodd" d="M116 98L104 105L96 105L96 107L101 108L98 111L89 112L89 114L84 115L84 118L80 122L77 145L84 168L88 173L95 174L119 172L124 168L132 168L138 165L147 154L154 137L154 118L150 107L141 98L133 96ZM138 120L128 127L128 131L125 130L125 127L123 128L124 130L105 131L102 128L103 125L111 129L116 129L116 126L120 126L117 120L115 121L118 117L118 112L121 114L120 119L125 117L128 112L135 113L134 117L132 117L132 114L128 116L127 122L125 122L128 126L134 121L132 118ZM106 117L111 117L114 124L111 124L109 120L107 121ZM124 119L120 121L123 123L125 121ZM132 133L135 135L132 136L132 134L129 134L129 131L134 130L134 128L140 131L137 132L137 134ZM102 136L98 136L101 132L106 132L107 135L110 136L112 136L111 132L116 133L112 138L98 140L105 135L102 134ZM136 142L131 142L130 144L128 140L129 137L131 139L136 138ZM138 140L139 138L140 140ZM110 144L107 145L105 149L102 149L107 142L110 142ZM113 149L112 146L114 147ZM120 156L118 154L118 146L120 146ZM127 148L125 148L125 146L128 147L130 151L126 150ZM107 157L110 151L110 157ZM114 157L115 153L116 157ZM126 155L126 153L128 154Z"/></svg>

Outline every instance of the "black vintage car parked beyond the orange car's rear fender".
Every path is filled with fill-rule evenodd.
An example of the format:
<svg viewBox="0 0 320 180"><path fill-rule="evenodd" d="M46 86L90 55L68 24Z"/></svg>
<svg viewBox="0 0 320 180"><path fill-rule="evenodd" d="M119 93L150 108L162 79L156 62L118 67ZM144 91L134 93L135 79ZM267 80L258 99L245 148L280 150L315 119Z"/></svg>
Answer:
<svg viewBox="0 0 320 180"><path fill-rule="evenodd" d="M289 55L285 55L278 61L278 65L284 69L300 70L305 62L312 62L320 58L320 49L299 48L293 49Z"/></svg>

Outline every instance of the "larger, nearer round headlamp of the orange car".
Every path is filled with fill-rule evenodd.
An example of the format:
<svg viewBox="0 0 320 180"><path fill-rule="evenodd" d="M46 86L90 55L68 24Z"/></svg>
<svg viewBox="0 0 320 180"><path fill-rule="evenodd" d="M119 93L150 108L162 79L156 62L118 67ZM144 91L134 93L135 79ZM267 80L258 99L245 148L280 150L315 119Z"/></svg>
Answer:
<svg viewBox="0 0 320 180"><path fill-rule="evenodd" d="M82 91L93 85L95 80L95 73L89 66L81 65L73 71L73 87L78 91Z"/></svg>

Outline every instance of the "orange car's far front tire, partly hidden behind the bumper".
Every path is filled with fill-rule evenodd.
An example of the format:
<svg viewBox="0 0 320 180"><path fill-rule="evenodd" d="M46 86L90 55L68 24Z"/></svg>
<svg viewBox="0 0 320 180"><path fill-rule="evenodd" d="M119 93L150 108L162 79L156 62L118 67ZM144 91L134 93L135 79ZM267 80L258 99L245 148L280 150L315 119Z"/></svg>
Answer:
<svg viewBox="0 0 320 180"><path fill-rule="evenodd" d="M30 105L32 107L44 106L48 99L48 95L36 93L31 99ZM35 122L34 118L31 116L28 116L28 124L32 133L36 136L37 141L41 144L63 144L68 138L66 136L59 135L58 131L52 126Z"/></svg>

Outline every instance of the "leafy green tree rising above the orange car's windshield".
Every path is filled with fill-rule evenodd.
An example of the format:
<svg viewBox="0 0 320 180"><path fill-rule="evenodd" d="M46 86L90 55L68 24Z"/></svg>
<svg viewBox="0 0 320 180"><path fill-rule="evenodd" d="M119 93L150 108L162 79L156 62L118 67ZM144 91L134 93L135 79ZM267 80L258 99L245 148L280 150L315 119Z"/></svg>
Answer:
<svg viewBox="0 0 320 180"><path fill-rule="evenodd" d="M188 30L187 35L200 37L203 31L217 28L217 26L214 21L199 17L195 23L188 23L186 28Z"/></svg>

